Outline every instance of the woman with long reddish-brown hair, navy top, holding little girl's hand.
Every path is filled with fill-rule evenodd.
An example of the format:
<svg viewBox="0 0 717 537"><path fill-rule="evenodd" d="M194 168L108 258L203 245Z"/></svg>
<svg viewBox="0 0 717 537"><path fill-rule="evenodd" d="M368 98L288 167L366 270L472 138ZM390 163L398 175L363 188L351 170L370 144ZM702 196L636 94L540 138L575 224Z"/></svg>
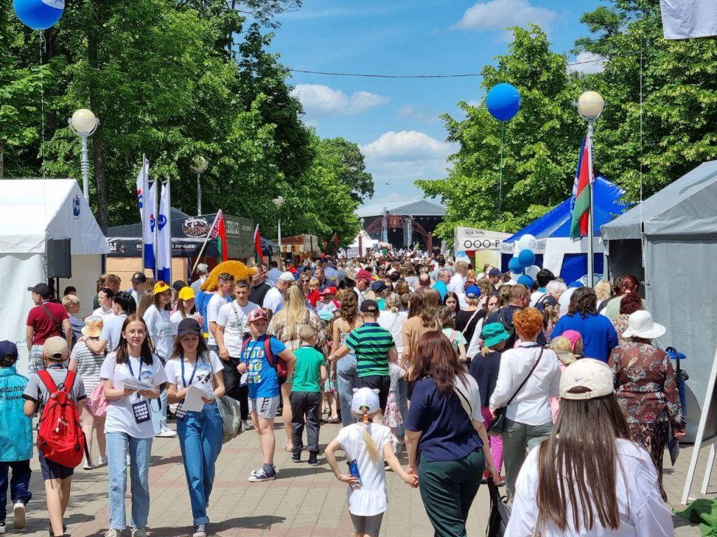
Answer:
<svg viewBox="0 0 717 537"><path fill-rule="evenodd" d="M465 537L465 521L483 470L500 480L480 412L478 384L458 362L441 332L423 334L410 379L405 423L409 474L419 476L421 499L436 537Z"/></svg>

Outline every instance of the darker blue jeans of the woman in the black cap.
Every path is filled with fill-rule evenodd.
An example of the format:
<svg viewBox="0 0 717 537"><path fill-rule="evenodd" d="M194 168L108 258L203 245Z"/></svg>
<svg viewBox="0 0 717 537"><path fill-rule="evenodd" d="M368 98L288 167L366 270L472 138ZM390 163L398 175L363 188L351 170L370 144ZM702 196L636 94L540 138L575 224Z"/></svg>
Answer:
<svg viewBox="0 0 717 537"><path fill-rule="evenodd" d="M222 416L217 403L204 405L201 412L187 412L177 420L177 434L189 486L189 503L194 526L206 524L206 506L214 485L214 463L222 450Z"/></svg>

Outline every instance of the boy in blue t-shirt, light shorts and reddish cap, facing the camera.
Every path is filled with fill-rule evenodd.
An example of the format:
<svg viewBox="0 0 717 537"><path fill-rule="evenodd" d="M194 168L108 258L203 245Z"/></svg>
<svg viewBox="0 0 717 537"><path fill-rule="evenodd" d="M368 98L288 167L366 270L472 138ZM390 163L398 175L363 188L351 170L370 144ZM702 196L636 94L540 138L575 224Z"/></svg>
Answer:
<svg viewBox="0 0 717 537"><path fill-rule="evenodd" d="M276 438L274 436L274 417L279 408L280 382L277 376L276 364L279 358L285 360L288 367L293 367L295 357L282 342L266 334L269 326L269 316L260 308L250 311L247 316L247 325L252 334L242 349L237 371L239 374L247 373L249 385L249 412L254 428L259 435L259 442L264 454L262 468L254 470L249 480L251 483L270 481L276 478L274 466L274 451ZM269 338L272 362L267 358L265 345Z"/></svg>

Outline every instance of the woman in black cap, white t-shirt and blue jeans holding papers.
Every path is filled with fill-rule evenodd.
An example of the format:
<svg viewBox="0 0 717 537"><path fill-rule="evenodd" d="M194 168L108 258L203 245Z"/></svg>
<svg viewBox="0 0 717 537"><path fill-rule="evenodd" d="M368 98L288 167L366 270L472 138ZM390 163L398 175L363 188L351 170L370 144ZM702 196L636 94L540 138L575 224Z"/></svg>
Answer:
<svg viewBox="0 0 717 537"><path fill-rule="evenodd" d="M215 397L224 395L224 365L217 353L209 351L199 323L184 319L177 329L177 341L171 359L164 367L167 376L167 400L179 403L177 432L189 487L189 503L194 518L193 537L206 537L206 506L214 484L214 463L222 450L222 416ZM201 395L201 410L186 410L184 400L191 387Z"/></svg>

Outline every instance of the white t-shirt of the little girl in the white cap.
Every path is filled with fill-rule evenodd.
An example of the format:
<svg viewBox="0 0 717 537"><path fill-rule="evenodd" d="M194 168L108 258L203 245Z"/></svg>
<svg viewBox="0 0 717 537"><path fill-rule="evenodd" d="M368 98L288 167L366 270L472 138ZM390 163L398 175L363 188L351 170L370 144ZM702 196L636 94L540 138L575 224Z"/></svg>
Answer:
<svg viewBox="0 0 717 537"><path fill-rule="evenodd" d="M374 516L386 511L386 470L384 445L391 442L391 429L386 425L369 424L369 435L379 448L379 460L373 460L366 450L364 424L353 423L338 432L336 440L346 452L346 460L356 459L361 475L361 487L348 487L348 512L356 516Z"/></svg>

